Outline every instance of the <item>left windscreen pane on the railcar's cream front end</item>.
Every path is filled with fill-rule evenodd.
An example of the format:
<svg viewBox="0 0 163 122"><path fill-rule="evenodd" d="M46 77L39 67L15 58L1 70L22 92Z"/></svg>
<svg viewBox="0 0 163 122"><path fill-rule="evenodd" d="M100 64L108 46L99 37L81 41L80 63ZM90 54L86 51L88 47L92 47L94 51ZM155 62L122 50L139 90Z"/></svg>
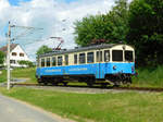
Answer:
<svg viewBox="0 0 163 122"><path fill-rule="evenodd" d="M123 50L112 51L113 61L123 61Z"/></svg>

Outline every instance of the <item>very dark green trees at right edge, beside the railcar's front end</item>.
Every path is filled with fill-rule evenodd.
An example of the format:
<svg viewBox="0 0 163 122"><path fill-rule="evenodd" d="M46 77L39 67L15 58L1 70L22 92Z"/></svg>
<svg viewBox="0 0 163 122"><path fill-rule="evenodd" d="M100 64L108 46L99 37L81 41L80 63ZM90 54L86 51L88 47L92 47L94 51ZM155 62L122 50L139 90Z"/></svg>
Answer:
<svg viewBox="0 0 163 122"><path fill-rule="evenodd" d="M129 9L128 44L139 65L163 63L163 0L134 0Z"/></svg>

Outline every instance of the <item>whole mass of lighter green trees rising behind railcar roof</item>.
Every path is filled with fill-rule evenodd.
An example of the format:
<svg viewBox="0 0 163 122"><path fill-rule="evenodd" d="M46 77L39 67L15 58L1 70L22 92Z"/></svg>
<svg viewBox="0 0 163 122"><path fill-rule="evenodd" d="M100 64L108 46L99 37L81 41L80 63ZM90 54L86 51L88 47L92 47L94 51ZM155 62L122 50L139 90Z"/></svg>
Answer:
<svg viewBox="0 0 163 122"><path fill-rule="evenodd" d="M75 41L87 46L95 39L108 42L125 41L128 33L127 0L118 0L108 14L90 15L75 22Z"/></svg>

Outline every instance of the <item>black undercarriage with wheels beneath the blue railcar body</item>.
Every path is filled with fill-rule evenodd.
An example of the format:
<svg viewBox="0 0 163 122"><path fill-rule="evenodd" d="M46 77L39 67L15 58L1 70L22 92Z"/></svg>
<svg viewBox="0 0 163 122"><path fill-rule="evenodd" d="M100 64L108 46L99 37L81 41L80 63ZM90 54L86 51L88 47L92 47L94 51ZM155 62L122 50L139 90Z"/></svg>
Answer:
<svg viewBox="0 0 163 122"><path fill-rule="evenodd" d="M48 85L58 85L63 84L64 86L67 83L79 82L86 83L89 87L93 85L101 85L106 87L108 85L120 86L120 85L129 85L131 84L130 74L108 74L105 78L96 78L93 75L75 75L75 76L41 76L37 78L39 84Z"/></svg>

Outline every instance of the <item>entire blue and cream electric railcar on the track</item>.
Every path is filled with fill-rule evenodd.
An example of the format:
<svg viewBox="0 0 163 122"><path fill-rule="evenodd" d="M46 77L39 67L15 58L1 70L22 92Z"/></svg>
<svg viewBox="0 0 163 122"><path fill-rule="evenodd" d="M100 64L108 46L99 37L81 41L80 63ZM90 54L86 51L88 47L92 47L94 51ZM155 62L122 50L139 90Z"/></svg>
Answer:
<svg viewBox="0 0 163 122"><path fill-rule="evenodd" d="M96 83L118 85L131 83L135 74L135 50L122 44L53 51L39 56L37 60L36 76L38 83L45 84L66 85L77 80L89 86Z"/></svg>

